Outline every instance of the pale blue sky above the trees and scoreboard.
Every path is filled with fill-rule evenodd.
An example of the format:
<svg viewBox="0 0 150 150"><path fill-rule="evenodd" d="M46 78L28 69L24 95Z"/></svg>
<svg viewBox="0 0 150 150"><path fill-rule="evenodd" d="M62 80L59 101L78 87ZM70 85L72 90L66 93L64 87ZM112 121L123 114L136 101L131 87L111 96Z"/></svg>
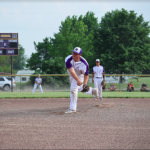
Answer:
<svg viewBox="0 0 150 150"><path fill-rule="evenodd" d="M150 0L0 0L0 33L18 33L19 44L30 58L36 52L34 41L53 38L67 16L91 11L100 23L105 13L122 8L150 21Z"/></svg>

